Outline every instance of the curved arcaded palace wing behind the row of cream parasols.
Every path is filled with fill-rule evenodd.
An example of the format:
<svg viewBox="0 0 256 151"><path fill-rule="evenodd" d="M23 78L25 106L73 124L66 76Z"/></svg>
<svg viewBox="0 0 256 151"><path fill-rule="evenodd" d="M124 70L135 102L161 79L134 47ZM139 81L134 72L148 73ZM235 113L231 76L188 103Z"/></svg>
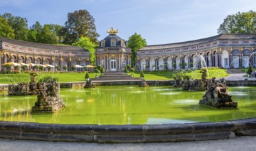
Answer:
<svg viewBox="0 0 256 151"><path fill-rule="evenodd" d="M0 69L6 62L23 62L41 65L66 66L89 65L89 51L82 47L58 46L41 43L30 43L0 37Z"/></svg>

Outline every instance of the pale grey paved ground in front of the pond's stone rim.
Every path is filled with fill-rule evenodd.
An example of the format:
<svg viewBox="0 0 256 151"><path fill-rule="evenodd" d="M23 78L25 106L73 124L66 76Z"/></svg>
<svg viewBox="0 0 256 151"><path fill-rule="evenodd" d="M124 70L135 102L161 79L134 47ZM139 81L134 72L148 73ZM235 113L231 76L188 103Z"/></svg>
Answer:
<svg viewBox="0 0 256 151"><path fill-rule="evenodd" d="M192 141L181 143L67 143L47 141L24 141L0 139L1 151L36 151L36 150L256 150L256 137L236 137L215 141Z"/></svg>

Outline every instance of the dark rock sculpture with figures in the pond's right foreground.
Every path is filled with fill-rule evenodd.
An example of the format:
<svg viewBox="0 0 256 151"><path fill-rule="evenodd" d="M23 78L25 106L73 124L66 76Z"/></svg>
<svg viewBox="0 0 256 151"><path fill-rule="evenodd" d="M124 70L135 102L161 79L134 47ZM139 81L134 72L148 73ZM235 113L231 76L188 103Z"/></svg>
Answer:
<svg viewBox="0 0 256 151"><path fill-rule="evenodd" d="M215 77L213 77L211 80L207 80L207 90L199 104L216 108L237 108L237 102L233 102L231 97L231 95L228 95L226 80L222 78L219 82L216 82Z"/></svg>

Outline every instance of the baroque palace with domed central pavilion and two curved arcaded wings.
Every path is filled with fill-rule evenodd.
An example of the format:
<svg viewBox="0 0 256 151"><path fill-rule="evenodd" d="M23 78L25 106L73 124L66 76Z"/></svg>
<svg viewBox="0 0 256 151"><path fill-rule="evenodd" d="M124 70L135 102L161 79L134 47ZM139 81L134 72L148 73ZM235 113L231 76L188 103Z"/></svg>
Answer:
<svg viewBox="0 0 256 151"><path fill-rule="evenodd" d="M131 49L127 41L108 30L96 49L96 66L105 71L123 71L131 65ZM30 43L0 37L0 69L6 62L23 62L60 67L90 65L89 51L82 47ZM136 69L164 70L220 67L256 67L256 34L220 34L182 43L147 45L137 51Z"/></svg>

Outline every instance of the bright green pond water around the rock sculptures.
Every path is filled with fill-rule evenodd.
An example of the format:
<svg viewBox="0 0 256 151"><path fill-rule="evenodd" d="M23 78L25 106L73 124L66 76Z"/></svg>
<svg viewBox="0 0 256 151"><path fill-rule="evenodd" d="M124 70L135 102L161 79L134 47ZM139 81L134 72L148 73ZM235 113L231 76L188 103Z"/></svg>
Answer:
<svg viewBox="0 0 256 151"><path fill-rule="evenodd" d="M226 121L256 117L255 87L231 87L237 109L198 104L203 91L181 91L171 86L98 86L61 89L66 108L54 114L30 113L36 95L8 96L0 92L0 120L47 124L173 124Z"/></svg>

